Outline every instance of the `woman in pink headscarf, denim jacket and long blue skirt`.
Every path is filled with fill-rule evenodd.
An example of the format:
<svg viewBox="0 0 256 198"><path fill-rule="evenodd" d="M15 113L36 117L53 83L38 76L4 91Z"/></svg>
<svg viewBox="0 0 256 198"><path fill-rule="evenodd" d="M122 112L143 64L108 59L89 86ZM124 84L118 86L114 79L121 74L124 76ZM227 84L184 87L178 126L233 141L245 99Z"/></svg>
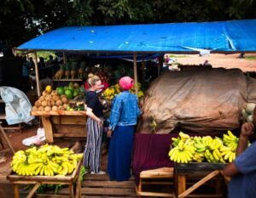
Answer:
<svg viewBox="0 0 256 198"><path fill-rule="evenodd" d="M122 92L113 99L109 117L108 174L110 180L126 181L131 177L133 136L141 110L137 96L129 92L133 87L131 77L122 77L119 86Z"/></svg>

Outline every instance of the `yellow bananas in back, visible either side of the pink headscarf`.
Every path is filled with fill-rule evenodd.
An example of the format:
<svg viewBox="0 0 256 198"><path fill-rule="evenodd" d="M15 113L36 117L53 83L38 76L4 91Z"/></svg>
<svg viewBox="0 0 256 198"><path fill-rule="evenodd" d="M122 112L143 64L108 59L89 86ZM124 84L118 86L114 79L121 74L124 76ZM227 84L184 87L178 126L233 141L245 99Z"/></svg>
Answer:
<svg viewBox="0 0 256 198"><path fill-rule="evenodd" d="M137 83L137 88L138 88L138 98L141 99L144 96L142 85L141 83ZM112 100L117 94L121 92L119 84L115 84L109 88L106 88L106 90L102 93L102 97L104 99ZM131 88L130 90L131 93L136 93L135 87Z"/></svg>

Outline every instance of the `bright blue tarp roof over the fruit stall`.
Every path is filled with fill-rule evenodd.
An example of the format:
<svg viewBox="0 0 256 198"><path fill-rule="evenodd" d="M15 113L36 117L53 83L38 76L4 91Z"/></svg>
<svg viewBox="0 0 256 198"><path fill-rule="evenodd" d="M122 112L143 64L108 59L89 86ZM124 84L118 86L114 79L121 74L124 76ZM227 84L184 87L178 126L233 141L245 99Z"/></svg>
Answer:
<svg viewBox="0 0 256 198"><path fill-rule="evenodd" d="M63 27L18 47L123 53L256 52L256 20Z"/></svg>

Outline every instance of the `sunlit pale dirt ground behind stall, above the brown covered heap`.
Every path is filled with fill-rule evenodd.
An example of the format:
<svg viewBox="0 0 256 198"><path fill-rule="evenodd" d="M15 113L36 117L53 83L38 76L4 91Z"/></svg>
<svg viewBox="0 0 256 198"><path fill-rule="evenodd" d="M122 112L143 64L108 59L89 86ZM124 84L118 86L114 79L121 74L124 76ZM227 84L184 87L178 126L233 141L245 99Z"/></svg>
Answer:
<svg viewBox="0 0 256 198"><path fill-rule="evenodd" d="M208 60L212 67L224 67L226 69L240 68L241 71L256 71L255 59L239 59L239 54L209 54L205 56L175 55L177 62L183 65L200 65ZM181 58L178 58L180 56ZM245 56L255 56L256 54L245 54Z"/></svg>

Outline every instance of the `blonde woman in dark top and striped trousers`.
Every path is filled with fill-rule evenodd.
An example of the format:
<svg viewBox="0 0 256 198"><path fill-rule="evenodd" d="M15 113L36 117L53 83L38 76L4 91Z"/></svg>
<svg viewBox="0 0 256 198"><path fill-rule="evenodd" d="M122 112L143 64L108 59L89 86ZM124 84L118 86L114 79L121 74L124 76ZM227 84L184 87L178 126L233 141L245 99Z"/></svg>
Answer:
<svg viewBox="0 0 256 198"><path fill-rule="evenodd" d="M91 174L104 174L101 171L103 106L96 91L102 88L101 79L90 74L87 80L90 88L86 94L87 141L84 150L84 167L90 167Z"/></svg>

